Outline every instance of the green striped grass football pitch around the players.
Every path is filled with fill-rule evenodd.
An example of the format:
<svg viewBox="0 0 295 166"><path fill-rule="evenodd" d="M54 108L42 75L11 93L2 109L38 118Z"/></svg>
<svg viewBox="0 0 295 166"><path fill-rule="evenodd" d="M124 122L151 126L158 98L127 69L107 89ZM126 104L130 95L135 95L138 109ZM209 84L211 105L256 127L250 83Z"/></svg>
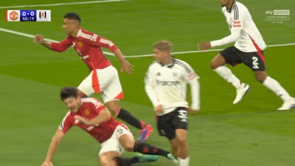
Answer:
<svg viewBox="0 0 295 166"><path fill-rule="evenodd" d="M78 1L78 0L77 0ZM80 2L89 0L80 0ZM62 3L73 1L64 0ZM76 1L75 1L76 2ZM267 45L295 43L293 1L241 0L247 6ZM85 30L108 38L134 65L133 74L120 73L123 108L156 128L154 112L144 92L144 75L153 57L154 42L173 43L173 52L196 51L197 43L230 34L219 0L129 0L56 6L61 3L5 1L0 6L0 28L24 34L42 34L61 41L63 16L76 12ZM6 6L23 6L10 7ZM51 22L6 22L6 10L51 10ZM290 10L290 20L265 20L267 10ZM60 88L77 87L89 74L87 66L70 47L58 53L34 44L33 39L0 31L0 165L35 166L45 160L49 143L67 109L59 99ZM221 48L221 47L220 47ZM217 48L217 49L220 49ZM225 48L222 47L222 48ZM295 45L265 50L266 72L295 96ZM108 51L108 50L104 50ZM189 115L188 142L191 166L294 166L295 112L276 111L282 101L256 81L245 65L230 67L251 90L232 105L235 89L210 69L219 51L175 54L200 76L201 111ZM116 57L106 55L119 70ZM188 92L190 90L188 89ZM93 95L98 97L99 95ZM190 94L188 94L190 101ZM137 137L137 129L129 126ZM168 140L156 129L148 143L170 150ZM80 128L72 128L53 157L54 166L94 166L100 145ZM124 152L131 157L132 152ZM140 164L139 164L140 165ZM167 159L144 166L172 166Z"/></svg>

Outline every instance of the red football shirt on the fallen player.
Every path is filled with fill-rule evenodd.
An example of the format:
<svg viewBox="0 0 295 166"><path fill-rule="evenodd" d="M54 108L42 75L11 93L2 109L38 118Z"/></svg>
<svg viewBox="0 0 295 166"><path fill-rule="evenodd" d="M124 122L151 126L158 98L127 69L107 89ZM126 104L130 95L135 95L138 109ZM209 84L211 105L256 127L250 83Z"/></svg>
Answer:
<svg viewBox="0 0 295 166"><path fill-rule="evenodd" d="M112 134L114 133L116 127L120 124L120 122L114 120L114 118L111 117L111 119L109 119L108 121L104 121L99 125L86 125L81 124L80 121L76 121L74 116L80 115L81 117L89 120L96 117L103 109L105 109L103 104L101 104L100 101L98 101L96 98L82 98L80 111L78 111L77 113L72 113L69 111L62 120L59 129L62 132L66 133L72 126L79 126L101 144L111 138Z"/></svg>

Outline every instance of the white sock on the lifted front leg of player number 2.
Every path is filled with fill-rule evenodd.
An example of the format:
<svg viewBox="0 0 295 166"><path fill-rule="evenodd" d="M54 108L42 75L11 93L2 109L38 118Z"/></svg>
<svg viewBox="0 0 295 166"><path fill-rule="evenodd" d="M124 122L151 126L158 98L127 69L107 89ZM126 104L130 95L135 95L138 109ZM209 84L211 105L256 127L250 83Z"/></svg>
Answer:
<svg viewBox="0 0 295 166"><path fill-rule="evenodd" d="M223 79L228 83L231 83L234 87L238 88L241 85L241 81L231 72L231 70L226 66L220 66L216 69L213 69L218 73Z"/></svg>

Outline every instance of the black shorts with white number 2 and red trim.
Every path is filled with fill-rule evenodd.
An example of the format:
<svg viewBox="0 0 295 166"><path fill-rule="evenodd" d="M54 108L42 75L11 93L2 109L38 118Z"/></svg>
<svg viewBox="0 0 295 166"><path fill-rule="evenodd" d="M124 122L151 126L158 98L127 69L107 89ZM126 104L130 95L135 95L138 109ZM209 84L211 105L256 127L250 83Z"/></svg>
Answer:
<svg viewBox="0 0 295 166"><path fill-rule="evenodd" d="M265 71L265 58L263 51L245 53L234 46L220 52L227 64L236 66L244 63L253 71Z"/></svg>

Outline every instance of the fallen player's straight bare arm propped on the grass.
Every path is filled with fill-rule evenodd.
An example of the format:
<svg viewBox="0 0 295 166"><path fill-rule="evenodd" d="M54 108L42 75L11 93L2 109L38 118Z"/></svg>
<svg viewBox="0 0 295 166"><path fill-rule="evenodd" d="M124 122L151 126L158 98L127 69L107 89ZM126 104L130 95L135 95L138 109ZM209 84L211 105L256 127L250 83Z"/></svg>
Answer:
<svg viewBox="0 0 295 166"><path fill-rule="evenodd" d="M53 139L49 145L46 159L41 166L53 166L53 164L52 164L53 154L56 151L56 149L58 148L58 146L64 136L65 136L65 134L60 129L57 129L55 136L53 136Z"/></svg>

